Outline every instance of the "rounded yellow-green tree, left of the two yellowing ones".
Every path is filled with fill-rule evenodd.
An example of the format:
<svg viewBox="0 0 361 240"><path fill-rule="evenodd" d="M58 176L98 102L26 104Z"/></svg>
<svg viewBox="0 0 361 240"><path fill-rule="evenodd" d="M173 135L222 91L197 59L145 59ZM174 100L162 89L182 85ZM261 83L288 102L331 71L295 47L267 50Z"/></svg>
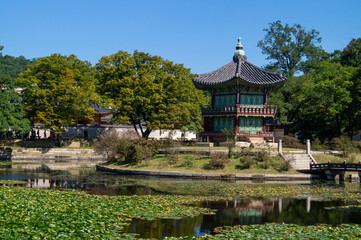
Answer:
<svg viewBox="0 0 361 240"><path fill-rule="evenodd" d="M62 132L79 119L92 119L97 101L94 70L76 56L53 54L37 60L19 75L26 115L44 128Z"/></svg>

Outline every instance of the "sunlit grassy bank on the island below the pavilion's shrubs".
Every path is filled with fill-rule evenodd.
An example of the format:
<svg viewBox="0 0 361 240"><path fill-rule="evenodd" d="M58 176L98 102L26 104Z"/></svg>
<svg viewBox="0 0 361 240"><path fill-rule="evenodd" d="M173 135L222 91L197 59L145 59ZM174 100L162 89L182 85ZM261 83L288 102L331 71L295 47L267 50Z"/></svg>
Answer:
<svg viewBox="0 0 361 240"><path fill-rule="evenodd" d="M150 171L177 171L177 172L192 172L192 173L223 173L223 174L279 174L280 172L270 167L268 169L261 169L258 165L253 165L249 169L239 169L239 158L230 159L225 164L223 169L209 169L209 156L197 155L197 154L179 154L165 156L159 154L153 157L148 163L143 162L139 165L131 165L129 163L111 164L108 167L130 169L130 170L150 170ZM281 158L271 157L270 163L277 164L283 162ZM285 174L296 174L293 169L282 172Z"/></svg>

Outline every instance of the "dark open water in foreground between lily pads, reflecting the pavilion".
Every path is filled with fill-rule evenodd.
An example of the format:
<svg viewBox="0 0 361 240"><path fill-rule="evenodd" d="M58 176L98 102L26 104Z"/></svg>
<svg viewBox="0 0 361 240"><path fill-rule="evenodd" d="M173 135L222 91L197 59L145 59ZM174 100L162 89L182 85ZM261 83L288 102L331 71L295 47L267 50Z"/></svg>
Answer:
<svg viewBox="0 0 361 240"><path fill-rule="evenodd" d="M193 218L140 220L134 219L125 232L142 238L203 236L213 234L216 227L263 223L361 223L360 212L326 210L325 207L351 204L345 201L323 201L317 198L248 198L235 201L203 202L203 207L216 209L215 215Z"/></svg>

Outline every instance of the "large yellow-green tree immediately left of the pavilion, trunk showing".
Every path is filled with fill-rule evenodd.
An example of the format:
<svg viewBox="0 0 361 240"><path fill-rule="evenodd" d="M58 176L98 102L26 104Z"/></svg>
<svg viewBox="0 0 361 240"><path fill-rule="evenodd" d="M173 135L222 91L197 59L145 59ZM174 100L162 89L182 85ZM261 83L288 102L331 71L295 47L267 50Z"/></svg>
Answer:
<svg viewBox="0 0 361 240"><path fill-rule="evenodd" d="M201 122L205 97L182 64L119 51L102 57L96 69L98 92L115 110L113 121L132 124L139 136L148 138L154 129Z"/></svg>

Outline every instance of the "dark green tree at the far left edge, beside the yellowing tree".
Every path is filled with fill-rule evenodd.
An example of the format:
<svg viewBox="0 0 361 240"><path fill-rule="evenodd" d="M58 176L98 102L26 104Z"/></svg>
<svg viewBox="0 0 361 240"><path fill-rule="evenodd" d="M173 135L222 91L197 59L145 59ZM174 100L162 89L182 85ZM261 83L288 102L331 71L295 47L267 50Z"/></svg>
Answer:
<svg viewBox="0 0 361 240"><path fill-rule="evenodd" d="M0 46L0 51L3 48ZM2 68L3 63L0 61L0 69ZM0 72L0 134L11 130L24 133L30 130L30 125L29 120L24 118L23 105L15 92L14 79Z"/></svg>

